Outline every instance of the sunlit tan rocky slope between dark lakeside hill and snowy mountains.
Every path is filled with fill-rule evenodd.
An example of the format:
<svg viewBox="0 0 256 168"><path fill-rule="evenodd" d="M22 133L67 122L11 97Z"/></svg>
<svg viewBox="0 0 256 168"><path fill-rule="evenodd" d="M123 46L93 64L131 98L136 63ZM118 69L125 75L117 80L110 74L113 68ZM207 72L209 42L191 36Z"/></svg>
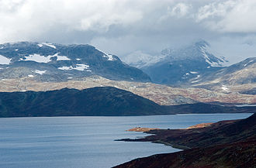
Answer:
<svg viewBox="0 0 256 168"><path fill-rule="evenodd" d="M138 94L144 98L156 102L159 105L183 105L201 102L220 102L223 104L256 104L256 97L250 94L240 94L237 91L230 93L220 93L209 91L203 88L193 87L169 87L161 84L140 83L129 81L111 81L103 77L86 77L79 81L63 82L39 82L30 77L19 79L0 80L0 91L53 91L64 87L83 90L90 87L117 87L133 94ZM253 87L243 87L250 90Z"/></svg>

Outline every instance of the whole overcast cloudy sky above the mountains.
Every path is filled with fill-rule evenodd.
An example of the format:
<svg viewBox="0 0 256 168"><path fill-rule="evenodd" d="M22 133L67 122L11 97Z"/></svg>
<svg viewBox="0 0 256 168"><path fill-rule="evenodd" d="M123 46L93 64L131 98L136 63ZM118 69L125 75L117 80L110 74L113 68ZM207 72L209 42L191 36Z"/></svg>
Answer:
<svg viewBox="0 0 256 168"><path fill-rule="evenodd" d="M205 39L231 63L256 57L256 0L0 0L0 43L88 43L124 57Z"/></svg>

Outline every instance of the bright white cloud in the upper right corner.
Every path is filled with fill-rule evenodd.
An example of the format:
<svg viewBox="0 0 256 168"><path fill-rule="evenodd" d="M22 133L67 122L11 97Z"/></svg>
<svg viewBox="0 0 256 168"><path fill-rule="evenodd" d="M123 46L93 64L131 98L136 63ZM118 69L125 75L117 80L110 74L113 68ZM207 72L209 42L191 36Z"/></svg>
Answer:
<svg viewBox="0 0 256 168"><path fill-rule="evenodd" d="M199 8L196 21L223 33L256 33L256 1L213 2Z"/></svg>

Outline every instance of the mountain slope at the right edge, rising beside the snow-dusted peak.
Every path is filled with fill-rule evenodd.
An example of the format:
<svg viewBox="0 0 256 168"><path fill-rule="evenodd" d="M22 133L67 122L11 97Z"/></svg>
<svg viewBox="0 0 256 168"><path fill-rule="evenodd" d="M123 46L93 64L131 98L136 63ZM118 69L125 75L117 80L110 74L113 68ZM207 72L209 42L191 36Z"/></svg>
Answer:
<svg viewBox="0 0 256 168"><path fill-rule="evenodd" d="M195 86L206 87L212 90L218 90L219 88L220 90L228 92L232 86L252 84L255 87L255 83L256 57L251 57L239 63L235 63L230 67L224 67L221 70L199 77L199 81ZM254 93L254 88L244 91L244 94L250 93Z"/></svg>

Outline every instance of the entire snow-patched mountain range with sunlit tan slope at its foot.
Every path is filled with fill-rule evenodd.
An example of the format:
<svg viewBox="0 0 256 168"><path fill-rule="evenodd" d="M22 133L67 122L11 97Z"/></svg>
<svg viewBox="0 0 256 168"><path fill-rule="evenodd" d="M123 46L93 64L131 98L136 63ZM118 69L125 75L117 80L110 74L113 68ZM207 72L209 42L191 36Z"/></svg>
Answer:
<svg viewBox="0 0 256 168"><path fill-rule="evenodd" d="M255 58L222 67L227 61L210 50L209 44L202 40L191 46L163 50L160 57L133 55L130 65L135 63L145 72L149 70L155 83L165 84L161 85L150 83L150 77L142 70L94 46L5 43L0 44L0 90L53 91L64 87L82 90L110 86L131 91L158 105L254 104Z"/></svg>

